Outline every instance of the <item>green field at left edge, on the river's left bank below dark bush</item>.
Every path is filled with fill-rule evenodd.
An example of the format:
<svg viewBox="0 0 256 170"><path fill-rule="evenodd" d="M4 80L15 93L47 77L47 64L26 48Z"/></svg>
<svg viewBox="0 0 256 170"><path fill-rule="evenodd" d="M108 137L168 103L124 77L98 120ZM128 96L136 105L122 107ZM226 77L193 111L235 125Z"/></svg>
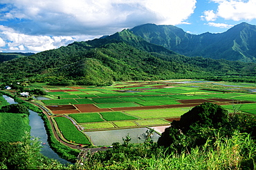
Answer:
<svg viewBox="0 0 256 170"><path fill-rule="evenodd" d="M28 115L0 113L0 141L21 141L25 132L30 132Z"/></svg>

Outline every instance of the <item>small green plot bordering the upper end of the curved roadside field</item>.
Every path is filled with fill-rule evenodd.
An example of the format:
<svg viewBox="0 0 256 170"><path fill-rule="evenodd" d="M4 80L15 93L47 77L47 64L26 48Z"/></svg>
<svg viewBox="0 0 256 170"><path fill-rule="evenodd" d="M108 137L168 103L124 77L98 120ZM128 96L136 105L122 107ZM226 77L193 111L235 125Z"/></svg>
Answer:
<svg viewBox="0 0 256 170"><path fill-rule="evenodd" d="M98 113L90 113L90 114L69 114L71 118L75 119L77 123L93 123L93 122L103 122L104 120L101 118Z"/></svg>

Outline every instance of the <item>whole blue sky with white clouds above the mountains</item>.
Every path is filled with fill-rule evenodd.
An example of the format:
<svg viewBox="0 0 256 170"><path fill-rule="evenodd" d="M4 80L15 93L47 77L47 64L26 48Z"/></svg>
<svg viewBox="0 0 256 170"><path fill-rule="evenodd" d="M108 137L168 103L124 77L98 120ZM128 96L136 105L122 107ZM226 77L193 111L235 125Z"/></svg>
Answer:
<svg viewBox="0 0 256 170"><path fill-rule="evenodd" d="M145 23L190 34L256 25L256 0L1 0L0 52L42 52Z"/></svg>

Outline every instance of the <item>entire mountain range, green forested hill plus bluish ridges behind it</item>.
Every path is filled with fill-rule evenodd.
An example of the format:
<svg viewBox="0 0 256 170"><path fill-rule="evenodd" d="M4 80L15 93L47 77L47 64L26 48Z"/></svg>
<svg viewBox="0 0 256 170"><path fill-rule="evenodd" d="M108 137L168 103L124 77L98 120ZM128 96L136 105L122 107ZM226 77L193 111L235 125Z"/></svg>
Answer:
<svg viewBox="0 0 256 170"><path fill-rule="evenodd" d="M253 61L254 56L246 56L248 59L241 61L228 61L210 59L210 56L204 56L206 57L204 58L203 55L190 57L193 56L192 53L190 56L184 55L189 51L196 54L200 52L200 49L205 49L201 51L201 54L208 52L208 55L215 56L214 54L221 50L216 50L217 48L210 43L218 45L218 41L222 42L216 37L221 36L223 39L224 36L230 36L230 39L224 39L230 42L231 39L237 37L236 32L240 32L239 34L241 30L246 32L247 27L250 30L254 28L247 23L241 23L221 34L192 35L171 25L140 25L101 39L74 42L55 50L47 50L0 63L0 82L20 80L50 82L55 85L109 85L113 81L129 80L210 78L228 75L254 76L256 63L241 62L249 61L249 59ZM234 33L233 36L230 32ZM139 34L141 35L138 36ZM252 53L250 48L253 48L253 39L248 35L253 37L253 31L246 36L246 39L252 42L243 41L244 46L239 45L241 42L238 38L232 41L237 42L237 49L244 50L244 47L247 47L248 52L243 51L244 55ZM213 36L215 38L210 41L210 37ZM192 43L192 40L197 40L197 45ZM188 49L184 45L187 45ZM219 44L219 47L229 47L229 45L230 43ZM170 50L170 47L174 50ZM232 49L236 50L234 45ZM224 50L224 53L232 52L234 54L232 57L235 57L237 54L235 50ZM216 55L215 58L219 56Z"/></svg>

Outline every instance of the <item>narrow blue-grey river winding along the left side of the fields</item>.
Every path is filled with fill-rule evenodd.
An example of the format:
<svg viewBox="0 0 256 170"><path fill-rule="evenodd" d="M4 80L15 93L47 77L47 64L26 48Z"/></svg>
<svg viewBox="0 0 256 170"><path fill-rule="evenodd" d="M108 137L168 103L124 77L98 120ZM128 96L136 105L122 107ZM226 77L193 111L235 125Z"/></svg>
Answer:
<svg viewBox="0 0 256 170"><path fill-rule="evenodd" d="M9 96L3 95L3 98L5 98L10 104L17 104L17 102L15 102L15 100ZM48 145L48 135L46 134L46 129L44 127L44 120L42 120L42 118L38 116L35 111L29 110L29 113L29 125L31 127L30 135L37 137L42 141L41 153L48 158L58 160L62 164L71 164L71 162L60 158L60 156L58 156L57 153L55 153L55 151L53 151L53 149L51 149L51 147Z"/></svg>

